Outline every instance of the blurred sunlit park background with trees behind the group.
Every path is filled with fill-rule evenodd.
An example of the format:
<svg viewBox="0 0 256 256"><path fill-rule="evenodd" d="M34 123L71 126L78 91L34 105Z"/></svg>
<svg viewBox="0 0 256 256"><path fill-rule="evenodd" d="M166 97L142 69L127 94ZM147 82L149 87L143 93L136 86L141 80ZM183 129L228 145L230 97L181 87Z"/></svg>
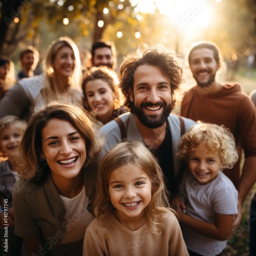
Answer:
<svg viewBox="0 0 256 256"><path fill-rule="evenodd" d="M123 56L142 42L174 49L185 65L191 44L208 40L224 58L219 80L238 81L247 94L256 89L256 0L1 0L0 13L0 55L10 57L16 71L20 50L32 45L42 60L51 42L63 35L76 42L82 60L90 57L94 41L114 41L116 71ZM182 90L194 83L184 71ZM247 255L249 196L224 255Z"/></svg>

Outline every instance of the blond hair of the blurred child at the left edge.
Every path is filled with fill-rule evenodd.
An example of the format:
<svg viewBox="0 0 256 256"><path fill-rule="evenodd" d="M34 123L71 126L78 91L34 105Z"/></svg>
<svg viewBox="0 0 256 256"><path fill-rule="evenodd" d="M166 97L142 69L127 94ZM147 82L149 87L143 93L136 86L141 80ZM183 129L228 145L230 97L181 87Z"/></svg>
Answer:
<svg viewBox="0 0 256 256"><path fill-rule="evenodd" d="M14 125L16 129L18 129L22 134L25 132L27 127L27 122L20 119L17 116L5 116L0 119L0 136L2 136L2 133L4 129L10 125ZM2 152L2 146L0 143L0 152Z"/></svg>

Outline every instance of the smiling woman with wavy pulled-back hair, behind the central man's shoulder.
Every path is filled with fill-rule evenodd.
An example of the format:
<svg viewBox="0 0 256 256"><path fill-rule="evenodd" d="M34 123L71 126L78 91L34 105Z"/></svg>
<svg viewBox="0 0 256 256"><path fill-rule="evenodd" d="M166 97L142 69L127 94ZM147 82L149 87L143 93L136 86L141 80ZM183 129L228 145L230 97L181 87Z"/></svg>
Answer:
<svg viewBox="0 0 256 256"><path fill-rule="evenodd" d="M116 73L108 67L93 67L83 76L84 108L92 112L98 126L128 112L121 105Z"/></svg>

